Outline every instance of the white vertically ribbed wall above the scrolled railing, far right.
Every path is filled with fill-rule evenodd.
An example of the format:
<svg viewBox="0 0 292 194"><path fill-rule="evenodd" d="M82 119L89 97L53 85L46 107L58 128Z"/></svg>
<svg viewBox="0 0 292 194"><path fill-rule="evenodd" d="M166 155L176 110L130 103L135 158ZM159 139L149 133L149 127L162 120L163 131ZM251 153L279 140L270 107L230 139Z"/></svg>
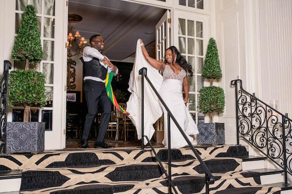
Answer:
<svg viewBox="0 0 292 194"><path fill-rule="evenodd" d="M292 117L292 1L259 0L262 99Z"/></svg>

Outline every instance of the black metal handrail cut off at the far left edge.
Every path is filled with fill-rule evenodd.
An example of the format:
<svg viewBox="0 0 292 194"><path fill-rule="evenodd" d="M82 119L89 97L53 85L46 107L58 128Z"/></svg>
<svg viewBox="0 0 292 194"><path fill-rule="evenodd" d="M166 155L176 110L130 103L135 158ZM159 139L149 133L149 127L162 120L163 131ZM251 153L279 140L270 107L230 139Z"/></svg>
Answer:
<svg viewBox="0 0 292 194"><path fill-rule="evenodd" d="M8 107L8 75L11 63L4 60L3 75L0 78L0 152L6 153L6 127L7 127L7 107Z"/></svg>

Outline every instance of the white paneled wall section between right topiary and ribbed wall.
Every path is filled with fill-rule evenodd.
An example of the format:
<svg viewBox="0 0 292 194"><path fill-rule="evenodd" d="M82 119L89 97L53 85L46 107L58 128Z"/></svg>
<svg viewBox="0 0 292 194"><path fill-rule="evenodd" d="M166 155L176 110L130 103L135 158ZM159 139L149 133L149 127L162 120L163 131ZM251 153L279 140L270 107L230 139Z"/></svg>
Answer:
<svg viewBox="0 0 292 194"><path fill-rule="evenodd" d="M220 122L225 123L225 143L236 144L235 89L230 81L246 83L244 0L216 0L216 26L225 110Z"/></svg>

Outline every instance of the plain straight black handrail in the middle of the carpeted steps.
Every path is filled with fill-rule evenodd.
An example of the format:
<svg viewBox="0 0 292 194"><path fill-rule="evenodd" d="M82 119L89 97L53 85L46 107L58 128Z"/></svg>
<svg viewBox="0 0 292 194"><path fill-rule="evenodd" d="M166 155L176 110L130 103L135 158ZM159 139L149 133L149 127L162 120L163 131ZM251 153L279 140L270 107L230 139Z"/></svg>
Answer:
<svg viewBox="0 0 292 194"><path fill-rule="evenodd" d="M170 143L170 118L173 120L173 122L175 123L175 125L177 126L177 128L179 129L179 131L181 132L181 134L183 135L183 138L185 139L185 141L187 142L188 146L191 148L191 150L193 151L193 153L195 154L195 156L197 157L198 161L201 163L201 166L203 167L204 171L205 171L205 184L206 184L206 194L209 194L209 184L213 184L214 183L214 178L213 175L211 174L209 168L206 166L206 164L203 162L203 160L201 159L200 154L197 152L197 150L194 148L194 146L192 145L192 143L190 142L190 140L187 138L187 136L185 135L182 127L179 125L179 123L177 122L177 120L175 119L175 117L173 116L173 114L171 113L171 111L169 110L169 108L167 107L167 105L165 104L164 100L162 99L162 97L159 95L158 91L155 89L155 87L153 86L152 82L149 80L149 78L147 77L147 68L143 67L139 70L139 75L142 76L142 149L144 148L144 137L147 138L147 136L144 136L144 78L146 78L146 81L148 81L150 87L152 88L152 90L155 92L156 96L159 98L159 100L161 101L161 103L163 104L165 110L167 111L167 134L168 134L168 193L171 193L171 185L172 185L172 181L171 181L171 143ZM150 142L150 141L148 141Z"/></svg>

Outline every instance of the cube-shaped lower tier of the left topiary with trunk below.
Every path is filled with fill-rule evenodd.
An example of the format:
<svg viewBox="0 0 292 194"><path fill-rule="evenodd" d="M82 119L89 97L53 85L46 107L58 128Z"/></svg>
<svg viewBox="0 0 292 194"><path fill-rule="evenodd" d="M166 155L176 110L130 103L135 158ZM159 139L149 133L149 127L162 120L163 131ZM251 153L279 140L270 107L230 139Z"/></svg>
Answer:
<svg viewBox="0 0 292 194"><path fill-rule="evenodd" d="M45 97L45 77L33 70L16 70L9 74L8 103L23 106L23 121L30 121L30 106L43 107Z"/></svg>

